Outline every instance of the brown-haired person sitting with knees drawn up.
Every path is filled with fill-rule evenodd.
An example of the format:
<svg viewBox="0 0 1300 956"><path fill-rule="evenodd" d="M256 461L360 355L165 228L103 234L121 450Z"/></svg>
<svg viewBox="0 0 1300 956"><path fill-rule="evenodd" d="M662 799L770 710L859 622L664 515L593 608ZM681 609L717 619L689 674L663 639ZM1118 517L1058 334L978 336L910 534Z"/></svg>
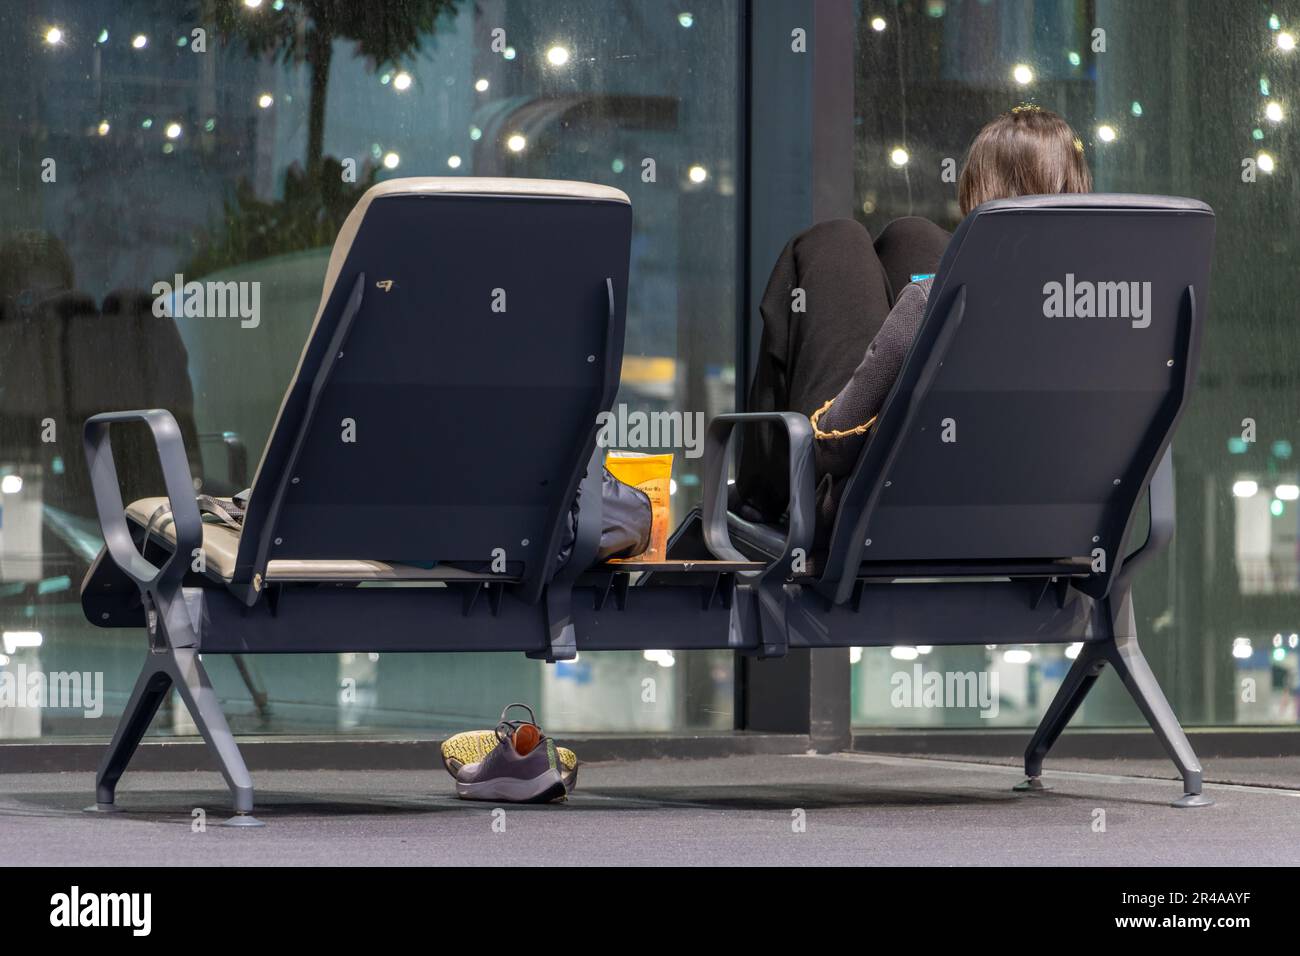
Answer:
<svg viewBox="0 0 1300 956"><path fill-rule="evenodd" d="M991 199L1091 190L1083 143L1070 125L1024 105L975 137L958 199L966 216ZM822 222L786 245L768 280L748 410L797 411L811 419L819 548L920 326L949 238L916 216L894 220L874 241L855 220ZM800 311L796 289L802 290ZM789 498L786 455L784 432L768 425L746 432L732 510L750 520L780 522Z"/></svg>

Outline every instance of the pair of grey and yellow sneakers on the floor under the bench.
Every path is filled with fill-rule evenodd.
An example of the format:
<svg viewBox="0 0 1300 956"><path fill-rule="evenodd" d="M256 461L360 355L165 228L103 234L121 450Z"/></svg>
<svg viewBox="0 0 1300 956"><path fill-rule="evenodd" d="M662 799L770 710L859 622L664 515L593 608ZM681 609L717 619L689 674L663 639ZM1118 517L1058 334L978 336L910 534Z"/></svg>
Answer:
<svg viewBox="0 0 1300 956"><path fill-rule="evenodd" d="M523 708L529 719L507 719ZM536 714L511 704L490 731L467 731L442 745L442 762L465 800L549 803L566 797L577 784L577 757L542 734Z"/></svg>

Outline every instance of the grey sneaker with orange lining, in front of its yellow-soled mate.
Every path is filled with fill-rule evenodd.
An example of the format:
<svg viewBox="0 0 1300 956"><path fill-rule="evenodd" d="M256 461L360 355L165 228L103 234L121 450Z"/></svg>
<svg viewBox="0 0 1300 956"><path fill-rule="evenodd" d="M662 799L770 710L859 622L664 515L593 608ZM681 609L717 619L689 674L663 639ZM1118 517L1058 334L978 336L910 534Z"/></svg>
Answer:
<svg viewBox="0 0 1300 956"><path fill-rule="evenodd" d="M528 711L528 721L508 721L511 708ZM456 770L456 796L463 800L497 800L512 804L545 804L568 793L555 741L542 734L533 710L511 704L500 711L497 747L476 763Z"/></svg>

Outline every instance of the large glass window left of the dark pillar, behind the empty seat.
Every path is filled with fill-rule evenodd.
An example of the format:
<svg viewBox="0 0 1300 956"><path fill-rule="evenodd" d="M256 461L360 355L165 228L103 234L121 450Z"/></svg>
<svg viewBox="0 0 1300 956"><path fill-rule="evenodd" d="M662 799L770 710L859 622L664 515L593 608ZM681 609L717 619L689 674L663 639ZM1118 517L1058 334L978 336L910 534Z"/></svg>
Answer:
<svg viewBox="0 0 1300 956"><path fill-rule="evenodd" d="M109 734L142 636L91 627L100 546L81 425L165 407L202 488L251 481L343 217L406 176L623 189L636 225L619 414L672 412L675 516L732 407L740 3L10 3L0 8L0 667L103 676L104 717L0 710L0 737ZM188 281L256 311L155 312ZM127 499L161 490L121 429ZM361 555L365 557L365 555ZM364 635L358 644L364 646ZM541 705L549 728L732 726L729 653L248 656L209 663L237 731L441 731ZM654 693L647 693L647 678ZM52 701L56 702L56 701ZM186 732L172 706L155 730Z"/></svg>

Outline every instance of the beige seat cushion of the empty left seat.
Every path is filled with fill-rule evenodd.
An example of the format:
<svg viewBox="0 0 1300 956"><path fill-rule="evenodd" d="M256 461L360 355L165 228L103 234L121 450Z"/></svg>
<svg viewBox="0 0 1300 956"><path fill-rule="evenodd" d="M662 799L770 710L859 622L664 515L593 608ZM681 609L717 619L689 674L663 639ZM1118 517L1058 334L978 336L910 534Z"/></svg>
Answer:
<svg viewBox="0 0 1300 956"><path fill-rule="evenodd" d="M162 512L153 518L159 509ZM126 506L126 516L142 528L148 527L156 540L176 548L176 523L166 498L133 501ZM234 576L238 551L238 531L216 522L203 523L203 558L211 574L229 581ZM272 561L266 564L266 581L411 581L446 580L463 575L455 568L422 568L382 561Z"/></svg>

